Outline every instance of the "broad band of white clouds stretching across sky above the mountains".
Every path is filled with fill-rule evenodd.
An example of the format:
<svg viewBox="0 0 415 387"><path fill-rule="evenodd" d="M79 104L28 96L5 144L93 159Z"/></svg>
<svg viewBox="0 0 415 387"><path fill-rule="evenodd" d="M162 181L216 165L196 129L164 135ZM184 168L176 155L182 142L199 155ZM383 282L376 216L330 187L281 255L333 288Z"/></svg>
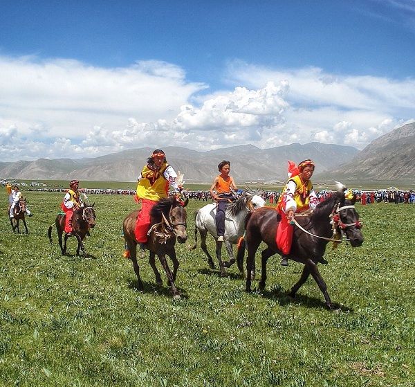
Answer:
<svg viewBox="0 0 415 387"><path fill-rule="evenodd" d="M99 156L135 147L197 150L252 143L362 149L413 118L415 81L279 71L232 62L230 90L159 61L104 69L0 57L0 160ZM194 101L192 104L191 101Z"/></svg>

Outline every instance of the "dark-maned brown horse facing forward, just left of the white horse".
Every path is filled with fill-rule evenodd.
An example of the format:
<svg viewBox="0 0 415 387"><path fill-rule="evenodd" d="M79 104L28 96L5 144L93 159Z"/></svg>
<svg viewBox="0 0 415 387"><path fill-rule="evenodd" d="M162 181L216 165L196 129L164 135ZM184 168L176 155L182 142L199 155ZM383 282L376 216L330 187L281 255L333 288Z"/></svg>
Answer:
<svg viewBox="0 0 415 387"><path fill-rule="evenodd" d="M188 202L189 199L186 199L184 203L181 203L175 197L158 201L158 203L151 208L151 226L148 233L149 239L145 244L145 248L150 251L149 264L156 276L157 285L163 285L163 280L156 268L156 255L158 255L160 263L165 270L175 300L181 298L181 296L176 285L174 285L179 265L174 245L176 244L176 240L179 243L184 243L187 240L187 213L185 206L187 206ZM138 290L142 290L144 289L144 286L140 278L140 267L137 262L137 241L136 236L134 235L138 212L139 210L135 210L132 213L129 213L124 219L122 228L124 231L124 240L130 253L129 259L133 262L133 269L137 276ZM166 255L169 255L172 259L173 273L170 271L169 265L167 264Z"/></svg>

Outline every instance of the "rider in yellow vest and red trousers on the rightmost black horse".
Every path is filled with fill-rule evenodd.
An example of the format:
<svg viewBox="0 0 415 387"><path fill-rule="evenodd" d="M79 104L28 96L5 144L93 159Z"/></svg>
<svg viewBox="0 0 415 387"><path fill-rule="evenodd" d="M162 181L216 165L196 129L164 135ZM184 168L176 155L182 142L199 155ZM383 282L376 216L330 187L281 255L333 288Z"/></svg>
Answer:
<svg viewBox="0 0 415 387"><path fill-rule="evenodd" d="M288 174L291 174L291 177L277 204L277 210L282 217L277 229L277 246L283 253L282 266L288 266L286 255L290 253L293 241L294 228L291 222L294 213L302 213L309 208L314 209L319 203L310 180L314 172L313 161L304 160L298 167L292 161L289 164Z"/></svg>

